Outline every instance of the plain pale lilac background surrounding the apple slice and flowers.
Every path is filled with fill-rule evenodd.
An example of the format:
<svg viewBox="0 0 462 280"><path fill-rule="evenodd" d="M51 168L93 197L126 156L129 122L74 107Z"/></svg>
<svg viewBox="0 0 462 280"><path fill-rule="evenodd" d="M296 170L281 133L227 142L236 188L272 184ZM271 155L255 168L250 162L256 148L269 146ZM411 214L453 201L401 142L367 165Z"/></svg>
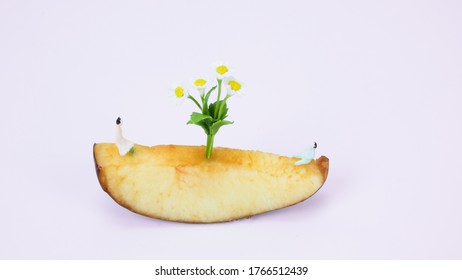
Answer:
<svg viewBox="0 0 462 280"><path fill-rule="evenodd" d="M1 1L0 258L461 259L460 1ZM291 155L324 187L212 225L134 214L100 188L114 121L203 145L170 86L229 63L245 92L216 145ZM209 77L210 77L209 76Z"/></svg>

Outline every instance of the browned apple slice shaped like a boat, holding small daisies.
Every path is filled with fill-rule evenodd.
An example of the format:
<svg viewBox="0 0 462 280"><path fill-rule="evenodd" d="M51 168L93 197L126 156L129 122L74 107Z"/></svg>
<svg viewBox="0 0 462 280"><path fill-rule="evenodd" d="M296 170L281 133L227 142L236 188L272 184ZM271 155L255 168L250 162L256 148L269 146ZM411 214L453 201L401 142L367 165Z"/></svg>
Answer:
<svg viewBox="0 0 462 280"><path fill-rule="evenodd" d="M115 144L95 144L98 180L120 205L152 218L215 223L299 203L321 188L329 159L309 164L257 151L204 146L135 145L120 156Z"/></svg>

